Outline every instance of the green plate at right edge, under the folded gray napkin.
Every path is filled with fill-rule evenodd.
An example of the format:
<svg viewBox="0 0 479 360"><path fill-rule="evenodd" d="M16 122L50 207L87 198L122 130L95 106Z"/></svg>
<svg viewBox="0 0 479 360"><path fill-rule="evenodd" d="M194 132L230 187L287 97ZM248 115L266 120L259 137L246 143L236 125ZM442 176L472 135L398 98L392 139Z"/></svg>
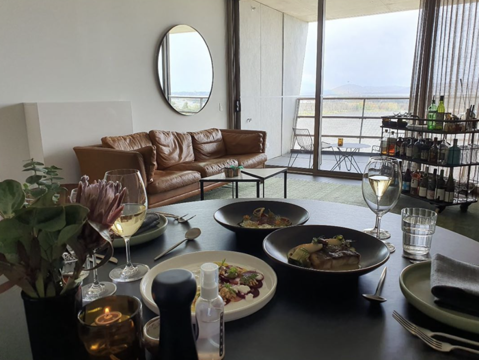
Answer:
<svg viewBox="0 0 479 360"><path fill-rule="evenodd" d="M422 313L454 328L479 334L478 317L444 309L434 303L430 261L405 268L399 277L399 286L408 302Z"/></svg>

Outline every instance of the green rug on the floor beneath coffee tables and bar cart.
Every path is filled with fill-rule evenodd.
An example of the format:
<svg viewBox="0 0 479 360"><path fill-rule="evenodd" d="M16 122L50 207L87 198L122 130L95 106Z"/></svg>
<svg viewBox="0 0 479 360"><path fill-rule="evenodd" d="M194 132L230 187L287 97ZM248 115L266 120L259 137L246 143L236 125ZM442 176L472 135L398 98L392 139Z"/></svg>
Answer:
<svg viewBox="0 0 479 360"><path fill-rule="evenodd" d="M213 189L205 193L205 200L228 199L232 197L231 184ZM241 198L255 198L256 185L254 183L240 183ZM283 179L271 178L265 182L265 197L282 198L283 197ZM288 179L288 198L291 199L309 199L329 201L333 203L342 203L367 207L364 202L360 182L358 185L343 185L337 183L326 183L318 181ZM186 201L198 201L200 197L193 197ZM406 207L420 207L434 210L435 207L427 202L401 196L397 205L392 210L393 213L400 214L401 209ZM479 241L479 232L477 224L479 223L479 205L472 204L468 212L461 212L459 206L446 208L438 215L438 225L452 230L456 233L467 236Z"/></svg>

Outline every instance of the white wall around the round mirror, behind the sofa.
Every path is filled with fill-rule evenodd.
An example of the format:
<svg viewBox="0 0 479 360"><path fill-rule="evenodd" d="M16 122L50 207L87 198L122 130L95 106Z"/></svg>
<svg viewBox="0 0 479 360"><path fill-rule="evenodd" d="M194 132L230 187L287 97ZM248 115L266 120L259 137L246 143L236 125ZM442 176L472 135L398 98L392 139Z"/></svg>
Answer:
<svg viewBox="0 0 479 360"><path fill-rule="evenodd" d="M25 177L23 102L131 101L134 131L227 127L225 11L226 0L0 0L0 178ZM155 78L158 43L182 23L214 64L211 99L194 116L172 110Z"/></svg>

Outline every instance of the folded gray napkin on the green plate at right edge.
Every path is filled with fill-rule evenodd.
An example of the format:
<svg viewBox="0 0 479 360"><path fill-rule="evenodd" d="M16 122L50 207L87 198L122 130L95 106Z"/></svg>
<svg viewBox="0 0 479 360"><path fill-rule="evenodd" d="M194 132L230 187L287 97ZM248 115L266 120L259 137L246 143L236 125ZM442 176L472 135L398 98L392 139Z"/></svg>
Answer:
<svg viewBox="0 0 479 360"><path fill-rule="evenodd" d="M479 266L435 254L431 293L439 306L479 316Z"/></svg>

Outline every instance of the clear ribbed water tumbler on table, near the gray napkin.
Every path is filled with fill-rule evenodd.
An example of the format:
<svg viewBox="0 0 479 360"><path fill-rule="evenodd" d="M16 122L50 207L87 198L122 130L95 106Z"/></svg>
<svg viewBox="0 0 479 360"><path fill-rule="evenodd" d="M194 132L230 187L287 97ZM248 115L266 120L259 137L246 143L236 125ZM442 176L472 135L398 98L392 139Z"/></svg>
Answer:
<svg viewBox="0 0 479 360"><path fill-rule="evenodd" d="M403 251L411 255L427 255L436 231L438 214L432 210L405 208L401 210Z"/></svg>

